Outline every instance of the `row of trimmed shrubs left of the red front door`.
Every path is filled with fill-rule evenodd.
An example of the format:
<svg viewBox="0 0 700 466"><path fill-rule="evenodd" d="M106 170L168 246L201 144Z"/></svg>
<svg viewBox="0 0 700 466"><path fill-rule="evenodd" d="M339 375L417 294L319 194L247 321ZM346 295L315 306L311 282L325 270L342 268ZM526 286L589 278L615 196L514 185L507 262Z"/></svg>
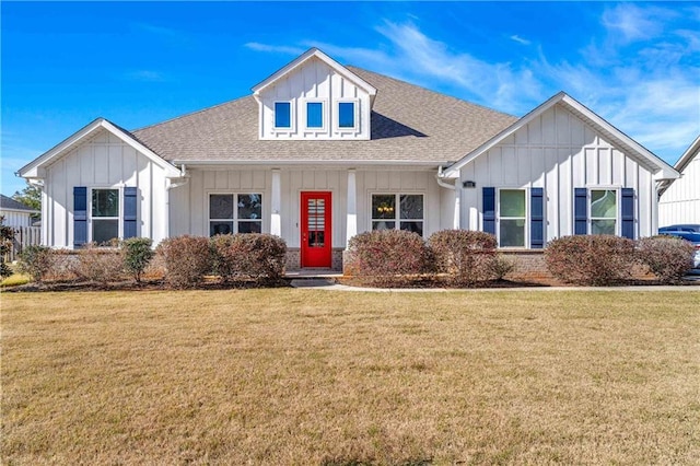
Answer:
<svg viewBox="0 0 700 466"><path fill-rule="evenodd" d="M155 251L151 240L138 237L101 245L89 244L77 252L32 246L20 256L20 271L33 281L77 280L106 284L144 276L165 278L174 288L190 288L206 275L224 282L247 280L275 282L284 273L287 245L269 234L177 236L163 241Z"/></svg>

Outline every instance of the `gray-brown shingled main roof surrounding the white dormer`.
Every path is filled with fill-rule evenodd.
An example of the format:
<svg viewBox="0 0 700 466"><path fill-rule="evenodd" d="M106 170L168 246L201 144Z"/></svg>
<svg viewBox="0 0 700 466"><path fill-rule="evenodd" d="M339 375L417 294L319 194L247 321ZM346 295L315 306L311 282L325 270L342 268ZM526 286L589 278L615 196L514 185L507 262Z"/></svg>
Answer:
<svg viewBox="0 0 700 466"><path fill-rule="evenodd" d="M238 98L131 133L173 161L454 162L517 120L355 67L377 89L369 141L258 140L258 105Z"/></svg>

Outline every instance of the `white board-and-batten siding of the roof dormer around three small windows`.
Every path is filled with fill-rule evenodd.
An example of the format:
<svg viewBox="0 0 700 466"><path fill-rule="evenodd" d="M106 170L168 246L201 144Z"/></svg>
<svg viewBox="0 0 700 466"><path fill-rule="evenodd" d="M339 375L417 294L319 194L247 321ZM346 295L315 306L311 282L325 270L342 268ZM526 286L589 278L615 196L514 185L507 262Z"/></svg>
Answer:
<svg viewBox="0 0 700 466"><path fill-rule="evenodd" d="M370 95L317 58L260 93L259 137L265 140L370 139ZM275 103L291 103L291 128L275 128ZM306 103L322 102L323 128L306 128ZM354 102L355 127L338 128L339 102Z"/></svg>

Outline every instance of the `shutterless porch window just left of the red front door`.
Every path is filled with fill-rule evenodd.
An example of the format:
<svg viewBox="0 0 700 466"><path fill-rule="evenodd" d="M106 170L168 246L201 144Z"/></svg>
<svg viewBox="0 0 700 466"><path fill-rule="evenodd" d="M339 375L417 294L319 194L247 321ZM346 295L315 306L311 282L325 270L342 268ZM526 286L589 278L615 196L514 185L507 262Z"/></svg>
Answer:
<svg viewBox="0 0 700 466"><path fill-rule="evenodd" d="M262 232L262 195L209 195L209 235Z"/></svg>

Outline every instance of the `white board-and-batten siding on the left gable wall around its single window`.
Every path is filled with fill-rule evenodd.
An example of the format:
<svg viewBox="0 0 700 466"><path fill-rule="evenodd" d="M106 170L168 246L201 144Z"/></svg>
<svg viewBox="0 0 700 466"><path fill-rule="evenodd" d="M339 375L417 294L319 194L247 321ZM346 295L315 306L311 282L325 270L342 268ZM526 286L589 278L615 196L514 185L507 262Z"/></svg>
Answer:
<svg viewBox="0 0 700 466"><path fill-rule="evenodd" d="M52 247L73 247L73 187L138 188L137 235L158 244L166 237L166 179L162 167L106 130L70 150L46 167L43 194L43 241ZM90 230L90 225L89 225Z"/></svg>

